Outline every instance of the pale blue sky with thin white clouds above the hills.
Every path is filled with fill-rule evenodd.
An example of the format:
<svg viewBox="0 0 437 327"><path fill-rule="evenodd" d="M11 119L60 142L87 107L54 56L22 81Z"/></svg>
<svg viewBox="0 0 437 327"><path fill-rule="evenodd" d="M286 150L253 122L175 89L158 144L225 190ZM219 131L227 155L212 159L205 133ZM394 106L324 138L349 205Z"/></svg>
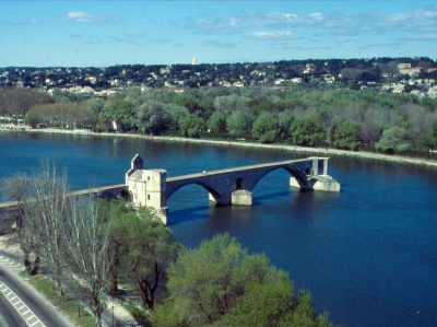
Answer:
<svg viewBox="0 0 437 327"><path fill-rule="evenodd" d="M437 1L0 1L0 67L437 59Z"/></svg>

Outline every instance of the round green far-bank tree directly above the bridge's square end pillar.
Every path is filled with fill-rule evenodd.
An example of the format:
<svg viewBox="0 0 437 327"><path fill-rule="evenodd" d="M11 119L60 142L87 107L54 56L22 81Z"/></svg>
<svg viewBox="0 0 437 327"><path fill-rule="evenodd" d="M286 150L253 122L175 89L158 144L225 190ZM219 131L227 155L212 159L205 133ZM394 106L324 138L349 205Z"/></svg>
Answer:
<svg viewBox="0 0 437 327"><path fill-rule="evenodd" d="M290 127L290 135L294 144L304 147L314 147L324 139L323 128L314 116L295 119Z"/></svg>

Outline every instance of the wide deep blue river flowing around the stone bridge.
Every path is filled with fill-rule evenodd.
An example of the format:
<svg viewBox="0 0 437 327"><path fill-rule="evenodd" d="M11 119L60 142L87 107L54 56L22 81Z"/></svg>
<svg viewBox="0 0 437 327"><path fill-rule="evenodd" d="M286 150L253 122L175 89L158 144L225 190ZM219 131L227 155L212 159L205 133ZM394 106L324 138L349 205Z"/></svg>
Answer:
<svg viewBox="0 0 437 327"><path fill-rule="evenodd" d="M42 159L66 167L75 189L125 182L135 153L167 176L307 157L308 153L98 136L0 133L0 177L32 174ZM300 192L274 171L253 189L252 207L214 208L200 186L167 205L175 237L189 247L228 232L263 252L312 294L317 311L343 326L435 326L437 171L330 157L340 194Z"/></svg>

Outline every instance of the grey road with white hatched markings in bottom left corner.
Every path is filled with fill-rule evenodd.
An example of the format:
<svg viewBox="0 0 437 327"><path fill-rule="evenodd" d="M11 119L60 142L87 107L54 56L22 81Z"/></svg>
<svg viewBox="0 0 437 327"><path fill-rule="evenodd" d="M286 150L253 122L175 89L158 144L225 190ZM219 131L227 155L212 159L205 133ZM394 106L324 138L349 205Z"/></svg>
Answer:
<svg viewBox="0 0 437 327"><path fill-rule="evenodd" d="M4 266L0 262L0 326L75 326L16 272Z"/></svg>

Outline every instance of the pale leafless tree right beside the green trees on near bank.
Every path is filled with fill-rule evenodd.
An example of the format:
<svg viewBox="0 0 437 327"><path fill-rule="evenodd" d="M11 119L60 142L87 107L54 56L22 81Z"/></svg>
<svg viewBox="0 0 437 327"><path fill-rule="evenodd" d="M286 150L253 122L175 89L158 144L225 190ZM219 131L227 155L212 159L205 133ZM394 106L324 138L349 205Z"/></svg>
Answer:
<svg viewBox="0 0 437 327"><path fill-rule="evenodd" d="M90 308L99 327L114 255L109 249L109 223L103 221L98 211L98 203L92 198L72 199L63 234L68 265L62 276L69 291Z"/></svg>

